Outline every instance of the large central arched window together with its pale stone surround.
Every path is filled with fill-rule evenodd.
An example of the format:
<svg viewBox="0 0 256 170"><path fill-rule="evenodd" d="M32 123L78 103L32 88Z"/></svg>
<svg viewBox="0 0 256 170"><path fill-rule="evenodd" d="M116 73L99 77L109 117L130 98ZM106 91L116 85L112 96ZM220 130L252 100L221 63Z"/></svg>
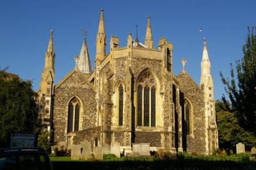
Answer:
<svg viewBox="0 0 256 170"><path fill-rule="evenodd" d="M161 120L163 112L161 111L162 101L158 77L150 68L145 68L140 72L135 82L134 104L136 130L159 128L163 124ZM141 87L140 91L138 91L139 87Z"/></svg>

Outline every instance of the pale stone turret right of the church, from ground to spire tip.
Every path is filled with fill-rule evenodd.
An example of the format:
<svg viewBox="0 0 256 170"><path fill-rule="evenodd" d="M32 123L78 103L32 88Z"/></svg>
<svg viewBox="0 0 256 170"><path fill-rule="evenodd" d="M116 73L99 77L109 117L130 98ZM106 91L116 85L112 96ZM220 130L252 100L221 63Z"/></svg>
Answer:
<svg viewBox="0 0 256 170"><path fill-rule="evenodd" d="M205 103L205 142L206 151L211 152L218 149L218 131L216 124L214 86L211 76L211 62L207 52L206 39L204 38L204 50L201 61L200 88L204 91Z"/></svg>

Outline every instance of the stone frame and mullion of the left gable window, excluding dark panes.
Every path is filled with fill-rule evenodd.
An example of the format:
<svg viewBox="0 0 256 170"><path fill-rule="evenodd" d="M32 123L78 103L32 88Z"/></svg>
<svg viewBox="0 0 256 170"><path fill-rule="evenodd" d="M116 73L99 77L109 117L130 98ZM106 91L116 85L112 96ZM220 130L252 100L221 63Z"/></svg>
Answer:
<svg viewBox="0 0 256 170"><path fill-rule="evenodd" d="M76 101L73 101L73 100L76 100ZM74 96L74 97L71 97L70 100L68 100L67 102L67 115L66 115L66 126L65 126L65 132L66 134L68 133L72 133L72 132L68 132L68 107L69 107L69 104L70 102L72 102L72 105L73 105L73 118L72 118L72 121L73 121L73 125L72 125L72 132L75 132L74 131L74 128L75 128L75 115L76 115L76 105L78 104L79 105L79 125L78 125L78 130L83 130L82 128L82 124L83 124L83 102L81 101L81 99L77 96Z"/></svg>

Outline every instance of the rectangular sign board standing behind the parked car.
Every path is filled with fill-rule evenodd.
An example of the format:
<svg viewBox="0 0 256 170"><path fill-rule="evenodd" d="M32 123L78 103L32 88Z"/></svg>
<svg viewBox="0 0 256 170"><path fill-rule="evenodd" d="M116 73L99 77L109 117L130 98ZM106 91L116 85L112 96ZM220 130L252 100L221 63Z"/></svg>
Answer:
<svg viewBox="0 0 256 170"><path fill-rule="evenodd" d="M37 134L10 134L10 148L33 148L37 146Z"/></svg>

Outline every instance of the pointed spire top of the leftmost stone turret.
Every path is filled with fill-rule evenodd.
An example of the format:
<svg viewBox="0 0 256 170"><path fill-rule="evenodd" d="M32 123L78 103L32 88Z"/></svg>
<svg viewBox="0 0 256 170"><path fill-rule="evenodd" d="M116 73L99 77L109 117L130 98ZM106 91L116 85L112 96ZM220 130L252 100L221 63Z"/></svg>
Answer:
<svg viewBox="0 0 256 170"><path fill-rule="evenodd" d="M51 75L54 79L54 60L55 60L55 53L53 50L53 42L52 42L52 35L53 31L51 30L50 40L47 47L47 51L45 52L45 66L44 66L44 72L45 74L47 72L51 72Z"/></svg>

